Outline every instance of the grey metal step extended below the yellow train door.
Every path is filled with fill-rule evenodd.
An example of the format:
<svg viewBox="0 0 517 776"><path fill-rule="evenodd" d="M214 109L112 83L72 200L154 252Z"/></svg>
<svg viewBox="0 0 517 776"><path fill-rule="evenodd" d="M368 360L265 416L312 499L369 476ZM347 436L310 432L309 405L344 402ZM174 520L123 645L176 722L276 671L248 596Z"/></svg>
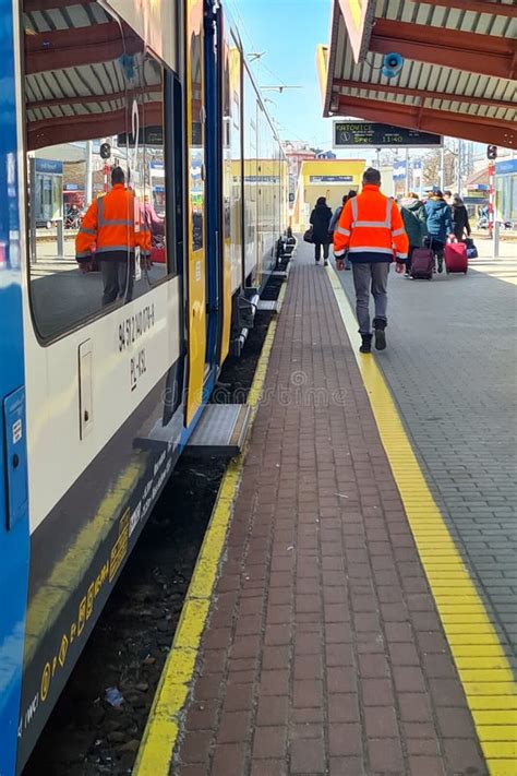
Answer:
<svg viewBox="0 0 517 776"><path fill-rule="evenodd" d="M184 452L191 455L238 455L244 444L250 418L249 404L208 404Z"/></svg>

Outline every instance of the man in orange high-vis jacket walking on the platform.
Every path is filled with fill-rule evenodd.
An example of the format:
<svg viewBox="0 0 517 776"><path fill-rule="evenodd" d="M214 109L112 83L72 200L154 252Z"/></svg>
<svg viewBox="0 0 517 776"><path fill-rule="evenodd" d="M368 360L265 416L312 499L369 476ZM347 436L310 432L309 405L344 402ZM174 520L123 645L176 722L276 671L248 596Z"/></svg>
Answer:
<svg viewBox="0 0 517 776"><path fill-rule="evenodd" d="M397 272L404 272L409 241L402 217L392 198L381 193L381 174L369 167L362 178L362 192L342 208L334 230L334 255L338 270L345 254L352 265L356 310L362 344L361 353L371 353L370 293L375 302L375 347L386 347L387 277L394 258Z"/></svg>

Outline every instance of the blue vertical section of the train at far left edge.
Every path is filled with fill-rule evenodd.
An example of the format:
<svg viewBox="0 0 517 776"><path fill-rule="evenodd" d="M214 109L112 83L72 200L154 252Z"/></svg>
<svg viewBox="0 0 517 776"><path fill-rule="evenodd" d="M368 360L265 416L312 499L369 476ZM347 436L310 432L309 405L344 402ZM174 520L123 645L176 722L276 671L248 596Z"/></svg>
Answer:
<svg viewBox="0 0 517 776"><path fill-rule="evenodd" d="M12 3L0 2L5 37L0 59L0 773L16 762L28 581L25 374Z"/></svg>

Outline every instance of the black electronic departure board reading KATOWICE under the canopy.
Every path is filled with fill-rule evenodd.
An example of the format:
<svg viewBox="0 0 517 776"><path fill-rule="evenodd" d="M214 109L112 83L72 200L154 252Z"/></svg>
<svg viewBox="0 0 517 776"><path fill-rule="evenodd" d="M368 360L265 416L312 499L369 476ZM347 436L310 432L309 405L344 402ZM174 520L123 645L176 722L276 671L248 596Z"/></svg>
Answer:
<svg viewBox="0 0 517 776"><path fill-rule="evenodd" d="M353 120L335 120L333 124L334 148L429 148L443 145L438 134L404 127Z"/></svg>

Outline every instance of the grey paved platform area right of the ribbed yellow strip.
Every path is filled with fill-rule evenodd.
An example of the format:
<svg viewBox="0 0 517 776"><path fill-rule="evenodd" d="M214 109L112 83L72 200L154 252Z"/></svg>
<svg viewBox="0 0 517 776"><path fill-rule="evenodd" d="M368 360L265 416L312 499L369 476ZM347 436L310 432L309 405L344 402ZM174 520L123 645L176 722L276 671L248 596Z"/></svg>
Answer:
<svg viewBox="0 0 517 776"><path fill-rule="evenodd" d="M435 501L515 656L517 244L505 249L504 259L471 261L467 276L422 283L394 273L388 348L377 362ZM353 303L349 274L339 277Z"/></svg>

